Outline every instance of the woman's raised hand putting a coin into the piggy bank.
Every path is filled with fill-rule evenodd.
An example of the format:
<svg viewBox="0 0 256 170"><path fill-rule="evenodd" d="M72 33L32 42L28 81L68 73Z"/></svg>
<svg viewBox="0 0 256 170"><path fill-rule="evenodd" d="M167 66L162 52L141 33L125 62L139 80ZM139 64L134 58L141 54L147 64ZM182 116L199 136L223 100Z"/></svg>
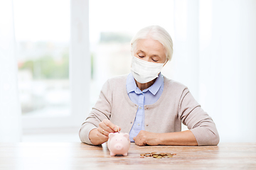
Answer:
<svg viewBox="0 0 256 170"><path fill-rule="evenodd" d="M89 133L90 141L93 145L101 145L104 142L107 142L108 135L111 132L119 132L121 128L117 125L114 125L110 120L105 119L99 123L99 127L97 129L93 129Z"/></svg>

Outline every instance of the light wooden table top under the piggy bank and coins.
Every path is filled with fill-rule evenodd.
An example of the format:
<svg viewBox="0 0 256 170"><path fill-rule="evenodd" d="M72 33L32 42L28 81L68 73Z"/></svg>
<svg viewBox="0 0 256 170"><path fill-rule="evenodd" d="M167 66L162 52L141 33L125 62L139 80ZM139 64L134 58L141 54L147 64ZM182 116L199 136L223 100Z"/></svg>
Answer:
<svg viewBox="0 0 256 170"><path fill-rule="evenodd" d="M146 152L174 157L140 158ZM110 157L107 146L83 143L0 143L0 169L256 169L256 143L214 147L145 146L132 143L127 157Z"/></svg>

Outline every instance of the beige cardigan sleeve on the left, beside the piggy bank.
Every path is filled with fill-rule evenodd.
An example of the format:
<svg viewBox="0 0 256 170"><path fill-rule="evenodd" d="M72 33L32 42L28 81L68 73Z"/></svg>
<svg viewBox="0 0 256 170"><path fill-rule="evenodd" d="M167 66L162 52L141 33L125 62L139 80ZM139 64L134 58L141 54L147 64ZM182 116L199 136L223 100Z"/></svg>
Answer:
<svg viewBox="0 0 256 170"><path fill-rule="evenodd" d="M112 95L109 81L106 81L100 91L100 96L90 111L89 115L85 119L85 123L82 123L82 127L79 131L79 137L81 142L92 145L89 139L89 133L91 130L99 127L99 123L104 119L110 119L112 106Z"/></svg>

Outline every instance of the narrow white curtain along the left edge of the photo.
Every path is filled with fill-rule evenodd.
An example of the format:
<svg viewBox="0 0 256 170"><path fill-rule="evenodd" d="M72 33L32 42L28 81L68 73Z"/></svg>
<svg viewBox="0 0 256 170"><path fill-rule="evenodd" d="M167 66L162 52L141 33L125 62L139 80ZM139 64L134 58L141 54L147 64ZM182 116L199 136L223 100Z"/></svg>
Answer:
<svg viewBox="0 0 256 170"><path fill-rule="evenodd" d="M11 0L0 1L0 142L21 142L14 14Z"/></svg>

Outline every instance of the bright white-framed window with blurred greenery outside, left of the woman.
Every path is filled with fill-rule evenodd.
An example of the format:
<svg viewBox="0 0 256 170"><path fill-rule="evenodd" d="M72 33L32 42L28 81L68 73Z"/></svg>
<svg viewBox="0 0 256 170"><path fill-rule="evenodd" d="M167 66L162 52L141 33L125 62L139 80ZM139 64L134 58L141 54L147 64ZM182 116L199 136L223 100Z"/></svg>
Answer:
<svg viewBox="0 0 256 170"><path fill-rule="evenodd" d="M90 57L87 39L78 35L88 34L87 6L88 1L14 0L24 129L79 127L85 119L89 88L81 79L89 79L84 67Z"/></svg>

